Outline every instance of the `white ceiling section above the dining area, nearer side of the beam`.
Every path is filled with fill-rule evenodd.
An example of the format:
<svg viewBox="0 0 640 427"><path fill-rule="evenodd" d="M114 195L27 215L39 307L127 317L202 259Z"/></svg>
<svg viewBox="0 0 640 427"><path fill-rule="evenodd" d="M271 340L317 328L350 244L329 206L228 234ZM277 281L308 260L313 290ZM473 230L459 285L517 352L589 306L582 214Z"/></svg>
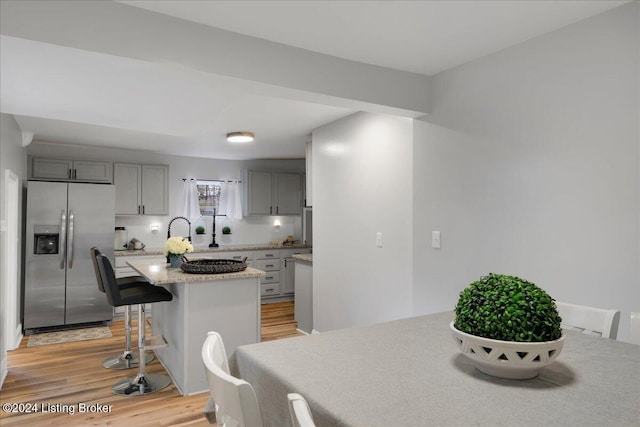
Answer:
<svg viewBox="0 0 640 427"><path fill-rule="evenodd" d="M382 67L432 75L626 1L118 0Z"/></svg>

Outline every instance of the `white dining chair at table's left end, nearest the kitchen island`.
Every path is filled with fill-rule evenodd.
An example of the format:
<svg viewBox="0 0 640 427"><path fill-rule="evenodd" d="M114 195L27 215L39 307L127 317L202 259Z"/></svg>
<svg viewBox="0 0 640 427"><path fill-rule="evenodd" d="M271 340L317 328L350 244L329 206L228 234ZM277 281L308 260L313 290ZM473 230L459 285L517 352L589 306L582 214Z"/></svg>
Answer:
<svg viewBox="0 0 640 427"><path fill-rule="evenodd" d="M256 393L251 384L229 374L227 353L217 332L207 334L202 362L218 426L262 427Z"/></svg>

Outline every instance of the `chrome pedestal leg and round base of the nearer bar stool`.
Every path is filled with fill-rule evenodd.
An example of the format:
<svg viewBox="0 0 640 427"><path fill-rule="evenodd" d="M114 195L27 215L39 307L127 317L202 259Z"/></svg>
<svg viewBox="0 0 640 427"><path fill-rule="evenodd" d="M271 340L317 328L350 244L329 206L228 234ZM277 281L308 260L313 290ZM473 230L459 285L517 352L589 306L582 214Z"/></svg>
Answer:
<svg viewBox="0 0 640 427"><path fill-rule="evenodd" d="M165 344L166 345L166 344ZM145 338L145 312L144 304L138 305L138 349L140 354L144 354L146 346ZM113 386L115 394L122 396L136 396L153 393L162 390L171 384L168 375L148 374L145 358L140 359L138 364L138 375L135 378L127 378Z"/></svg>

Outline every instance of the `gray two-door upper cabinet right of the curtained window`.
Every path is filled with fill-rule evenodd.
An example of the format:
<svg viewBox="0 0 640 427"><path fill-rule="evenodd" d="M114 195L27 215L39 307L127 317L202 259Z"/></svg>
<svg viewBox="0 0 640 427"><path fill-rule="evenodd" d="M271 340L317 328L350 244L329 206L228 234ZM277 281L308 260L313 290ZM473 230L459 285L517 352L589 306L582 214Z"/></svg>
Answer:
<svg viewBox="0 0 640 427"><path fill-rule="evenodd" d="M300 215L301 177L297 173L247 171L247 215Z"/></svg>

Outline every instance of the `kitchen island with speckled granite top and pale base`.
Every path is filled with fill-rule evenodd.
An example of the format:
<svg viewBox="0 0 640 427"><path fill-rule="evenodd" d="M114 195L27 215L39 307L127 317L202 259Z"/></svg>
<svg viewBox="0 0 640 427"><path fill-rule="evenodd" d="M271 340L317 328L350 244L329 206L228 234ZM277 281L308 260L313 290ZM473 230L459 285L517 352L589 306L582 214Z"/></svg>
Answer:
<svg viewBox="0 0 640 427"><path fill-rule="evenodd" d="M231 356L236 347L260 342L261 270L187 274L164 260L131 260L127 264L151 283L166 287L173 300L154 304L153 335L167 346L155 350L182 395L209 390L201 351L207 332L222 336Z"/></svg>

